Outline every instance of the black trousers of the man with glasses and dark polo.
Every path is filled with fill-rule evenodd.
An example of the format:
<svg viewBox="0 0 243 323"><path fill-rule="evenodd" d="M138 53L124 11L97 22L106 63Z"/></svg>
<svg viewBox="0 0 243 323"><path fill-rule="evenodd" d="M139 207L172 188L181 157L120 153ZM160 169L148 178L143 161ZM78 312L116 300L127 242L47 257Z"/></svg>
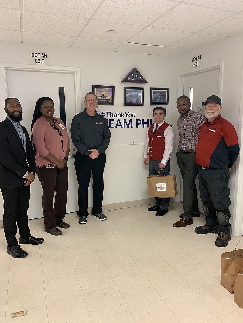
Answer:
<svg viewBox="0 0 243 323"><path fill-rule="evenodd" d="M93 176L93 207L92 214L102 212L102 201L104 191L103 173L105 169L105 152L98 158L91 159L83 156L79 151L75 156L75 170L78 181L78 216L88 216L88 186L91 172Z"/></svg>

